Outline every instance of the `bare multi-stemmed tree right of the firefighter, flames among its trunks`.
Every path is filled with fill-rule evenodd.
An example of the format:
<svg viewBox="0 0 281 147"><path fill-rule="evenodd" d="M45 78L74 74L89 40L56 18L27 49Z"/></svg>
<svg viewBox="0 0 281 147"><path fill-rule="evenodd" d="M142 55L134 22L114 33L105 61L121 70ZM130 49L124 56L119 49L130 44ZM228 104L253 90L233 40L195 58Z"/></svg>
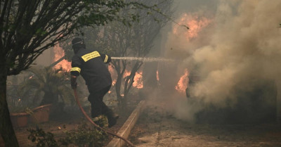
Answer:
<svg viewBox="0 0 281 147"><path fill-rule="evenodd" d="M161 8L161 12L171 15L171 4L173 1L166 0L138 0L145 5L151 6L157 4ZM123 11L125 15L128 11ZM138 23L131 24L131 27L124 27L122 23L111 23L103 28L100 39L103 43L103 48L110 51L112 56L117 57L145 57L153 46L153 41L159 34L159 31L169 17L159 13L151 13L143 10L134 11L140 14L141 17ZM117 72L115 82L115 91L119 106L126 108L128 94L133 86L136 72L143 65L141 60L112 60L113 68ZM122 87L124 87L122 91ZM123 94L122 94L123 93Z"/></svg>

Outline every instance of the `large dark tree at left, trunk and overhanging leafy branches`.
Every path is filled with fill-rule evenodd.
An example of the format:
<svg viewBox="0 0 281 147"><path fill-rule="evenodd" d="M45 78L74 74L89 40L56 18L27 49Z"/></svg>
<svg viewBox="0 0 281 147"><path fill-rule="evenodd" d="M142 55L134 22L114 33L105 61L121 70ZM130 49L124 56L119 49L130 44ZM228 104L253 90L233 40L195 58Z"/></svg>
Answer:
<svg viewBox="0 0 281 147"><path fill-rule="evenodd" d="M85 25L105 25L113 20L128 24L137 20L136 14L119 16L126 6L144 8L142 4L122 0L0 2L0 133L6 146L18 146L6 102L7 76L30 68L43 51Z"/></svg>

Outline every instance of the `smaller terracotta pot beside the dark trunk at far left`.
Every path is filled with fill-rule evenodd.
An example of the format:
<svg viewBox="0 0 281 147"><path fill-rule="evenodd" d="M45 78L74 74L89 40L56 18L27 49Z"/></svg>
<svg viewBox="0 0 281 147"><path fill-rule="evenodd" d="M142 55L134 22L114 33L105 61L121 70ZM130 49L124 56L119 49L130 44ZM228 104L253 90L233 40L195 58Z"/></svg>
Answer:
<svg viewBox="0 0 281 147"><path fill-rule="evenodd" d="M28 113L11 113L10 115L13 127L27 126L28 118L30 117Z"/></svg>

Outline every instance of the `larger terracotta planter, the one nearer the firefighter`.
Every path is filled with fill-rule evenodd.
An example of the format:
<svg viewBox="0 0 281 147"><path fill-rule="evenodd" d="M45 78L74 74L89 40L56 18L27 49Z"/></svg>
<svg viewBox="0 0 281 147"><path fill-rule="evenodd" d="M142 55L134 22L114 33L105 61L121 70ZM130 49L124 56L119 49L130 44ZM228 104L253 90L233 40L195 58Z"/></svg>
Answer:
<svg viewBox="0 0 281 147"><path fill-rule="evenodd" d="M33 115L31 116L31 121L35 123L48 122L51 106L52 104L46 104L32 109Z"/></svg>

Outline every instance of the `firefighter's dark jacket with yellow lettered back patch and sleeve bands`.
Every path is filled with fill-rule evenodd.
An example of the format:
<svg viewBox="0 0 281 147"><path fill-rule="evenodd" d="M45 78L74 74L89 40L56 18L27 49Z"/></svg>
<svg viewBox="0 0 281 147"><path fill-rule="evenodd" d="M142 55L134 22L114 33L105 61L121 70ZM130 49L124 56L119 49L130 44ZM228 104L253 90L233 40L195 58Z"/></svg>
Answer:
<svg viewBox="0 0 281 147"><path fill-rule="evenodd" d="M89 49L79 49L72 57L71 75L81 75L91 91L99 91L112 84L110 72L105 63L110 63L110 56Z"/></svg>

